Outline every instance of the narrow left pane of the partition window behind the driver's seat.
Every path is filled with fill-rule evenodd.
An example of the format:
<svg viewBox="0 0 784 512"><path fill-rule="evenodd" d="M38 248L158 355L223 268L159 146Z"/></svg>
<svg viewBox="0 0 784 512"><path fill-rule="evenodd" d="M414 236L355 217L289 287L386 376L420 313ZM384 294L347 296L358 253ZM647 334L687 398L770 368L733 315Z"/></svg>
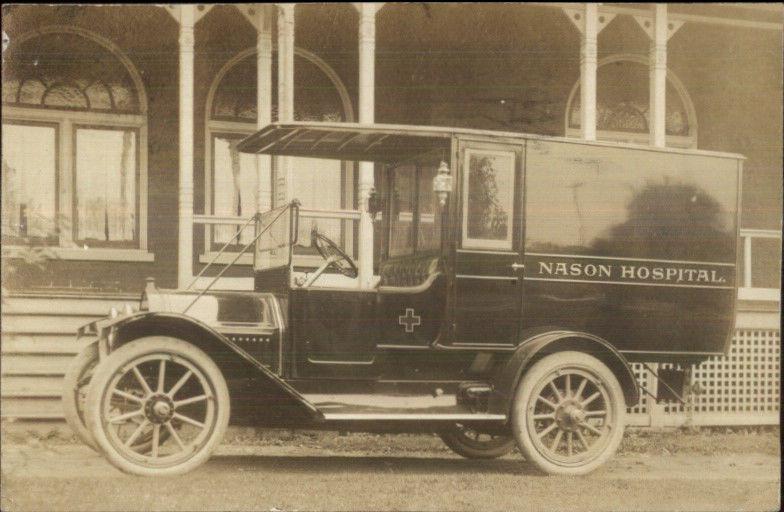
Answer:
<svg viewBox="0 0 784 512"><path fill-rule="evenodd" d="M414 252L415 171L413 165L405 165L392 174L389 255L393 257Z"/></svg>

